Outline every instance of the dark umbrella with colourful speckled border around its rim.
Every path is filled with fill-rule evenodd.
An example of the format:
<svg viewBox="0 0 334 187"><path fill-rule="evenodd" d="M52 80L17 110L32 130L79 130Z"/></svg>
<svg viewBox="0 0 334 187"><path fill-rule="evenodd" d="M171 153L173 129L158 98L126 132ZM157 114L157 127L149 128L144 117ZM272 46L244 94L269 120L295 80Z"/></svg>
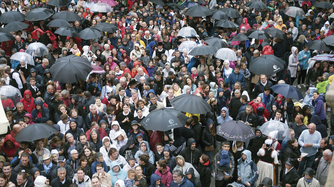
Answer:
<svg viewBox="0 0 334 187"><path fill-rule="evenodd" d="M217 135L228 141L246 142L255 137L251 126L240 121L228 121L217 126Z"/></svg>

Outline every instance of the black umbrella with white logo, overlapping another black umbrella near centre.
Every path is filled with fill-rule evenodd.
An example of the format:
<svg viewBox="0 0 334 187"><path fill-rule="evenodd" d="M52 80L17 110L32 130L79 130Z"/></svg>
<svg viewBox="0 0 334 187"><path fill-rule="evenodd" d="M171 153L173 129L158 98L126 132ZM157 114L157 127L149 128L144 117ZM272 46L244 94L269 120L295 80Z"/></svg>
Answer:
<svg viewBox="0 0 334 187"><path fill-rule="evenodd" d="M167 98L166 98L167 99ZM173 108L162 108L150 112L140 123L146 130L168 131L183 127L188 117Z"/></svg>

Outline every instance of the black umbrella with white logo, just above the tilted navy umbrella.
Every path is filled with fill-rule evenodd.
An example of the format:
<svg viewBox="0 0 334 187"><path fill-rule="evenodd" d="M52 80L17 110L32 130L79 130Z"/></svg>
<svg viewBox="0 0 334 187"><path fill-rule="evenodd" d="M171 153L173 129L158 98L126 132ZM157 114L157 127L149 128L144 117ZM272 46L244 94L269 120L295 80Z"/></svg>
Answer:
<svg viewBox="0 0 334 187"><path fill-rule="evenodd" d="M257 75L272 75L283 70L283 68L284 60L272 54L261 55L255 58L252 63L249 64L249 71L252 71Z"/></svg>

